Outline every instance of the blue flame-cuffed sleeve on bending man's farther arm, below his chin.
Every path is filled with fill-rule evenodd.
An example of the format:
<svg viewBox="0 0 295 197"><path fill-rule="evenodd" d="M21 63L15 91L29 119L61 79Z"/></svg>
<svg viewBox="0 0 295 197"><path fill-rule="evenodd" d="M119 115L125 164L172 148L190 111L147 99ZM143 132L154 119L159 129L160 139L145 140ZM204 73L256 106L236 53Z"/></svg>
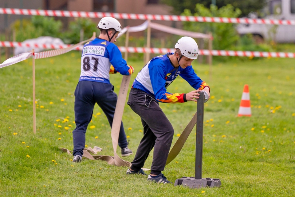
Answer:
<svg viewBox="0 0 295 197"><path fill-rule="evenodd" d="M181 73L180 76L186 80L195 90L203 90L205 87L210 87L206 82L202 81L201 78L197 76L192 66L186 67Z"/></svg>

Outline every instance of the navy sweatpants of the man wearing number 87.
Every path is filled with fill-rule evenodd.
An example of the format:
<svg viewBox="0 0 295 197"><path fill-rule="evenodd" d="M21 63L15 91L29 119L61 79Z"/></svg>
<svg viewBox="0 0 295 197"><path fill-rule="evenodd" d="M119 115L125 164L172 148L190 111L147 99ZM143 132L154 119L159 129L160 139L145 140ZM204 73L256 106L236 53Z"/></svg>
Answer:
<svg viewBox="0 0 295 197"><path fill-rule="evenodd" d="M75 90L76 128L73 131L73 155L83 155L85 133L92 119L95 103L102 109L112 127L117 103L117 94L114 92L114 86L109 83L80 81ZM127 139L122 122L118 145L121 148L127 147Z"/></svg>

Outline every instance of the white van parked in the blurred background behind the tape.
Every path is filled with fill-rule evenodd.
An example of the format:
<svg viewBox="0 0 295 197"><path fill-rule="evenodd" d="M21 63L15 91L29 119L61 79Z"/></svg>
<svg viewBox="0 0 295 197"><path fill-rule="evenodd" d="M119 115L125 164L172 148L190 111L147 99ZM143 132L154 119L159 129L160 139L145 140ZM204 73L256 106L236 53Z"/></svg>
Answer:
<svg viewBox="0 0 295 197"><path fill-rule="evenodd" d="M264 13L264 18L267 19L295 20L295 0L269 0ZM254 14L249 16L255 18ZM274 39L275 42L280 43L295 42L294 25L279 25L275 29L273 25L240 24L237 26L240 35L253 34L256 39Z"/></svg>

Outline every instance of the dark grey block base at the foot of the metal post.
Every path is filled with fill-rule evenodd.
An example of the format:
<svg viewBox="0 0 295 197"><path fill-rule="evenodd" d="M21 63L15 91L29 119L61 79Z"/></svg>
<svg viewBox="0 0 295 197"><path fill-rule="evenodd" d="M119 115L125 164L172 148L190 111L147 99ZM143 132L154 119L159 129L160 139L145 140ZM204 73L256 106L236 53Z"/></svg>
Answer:
<svg viewBox="0 0 295 197"><path fill-rule="evenodd" d="M203 178L203 179L195 179L195 177L182 177L180 179L176 179L174 186L183 185L185 187L190 187L192 189L199 189L201 187L220 187L221 181L220 179L211 179L211 178Z"/></svg>

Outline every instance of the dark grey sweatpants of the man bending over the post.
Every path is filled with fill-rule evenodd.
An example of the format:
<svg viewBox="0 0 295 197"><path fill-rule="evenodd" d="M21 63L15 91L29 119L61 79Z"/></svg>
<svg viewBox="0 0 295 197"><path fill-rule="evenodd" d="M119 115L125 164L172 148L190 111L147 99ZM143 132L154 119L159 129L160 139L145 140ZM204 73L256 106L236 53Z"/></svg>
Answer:
<svg viewBox="0 0 295 197"><path fill-rule="evenodd" d="M144 167L145 160L154 148L151 174L159 175L165 168L174 134L173 127L151 94L132 88L127 104L140 116L144 126L144 137L131 162L131 169L139 171Z"/></svg>

